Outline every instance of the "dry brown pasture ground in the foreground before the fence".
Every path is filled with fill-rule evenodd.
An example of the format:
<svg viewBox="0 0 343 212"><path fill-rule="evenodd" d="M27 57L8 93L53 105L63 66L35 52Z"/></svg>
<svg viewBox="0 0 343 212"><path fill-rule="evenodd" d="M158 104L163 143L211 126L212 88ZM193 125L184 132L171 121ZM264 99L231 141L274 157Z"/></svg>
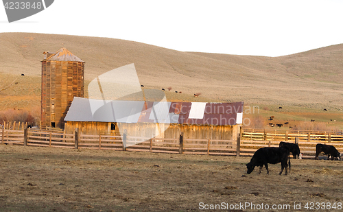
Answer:
<svg viewBox="0 0 343 212"><path fill-rule="evenodd" d="M342 210L342 161L291 159L287 176L248 161L0 145L0 211Z"/></svg>

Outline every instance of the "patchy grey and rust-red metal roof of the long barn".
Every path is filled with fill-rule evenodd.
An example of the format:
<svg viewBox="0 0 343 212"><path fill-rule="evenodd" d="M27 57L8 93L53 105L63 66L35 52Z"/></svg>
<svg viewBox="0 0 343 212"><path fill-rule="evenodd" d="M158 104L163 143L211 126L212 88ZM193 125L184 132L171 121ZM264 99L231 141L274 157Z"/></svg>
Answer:
<svg viewBox="0 0 343 212"><path fill-rule="evenodd" d="M64 121L235 125L242 123L243 102L104 101L74 97ZM92 112L92 107L97 110Z"/></svg>

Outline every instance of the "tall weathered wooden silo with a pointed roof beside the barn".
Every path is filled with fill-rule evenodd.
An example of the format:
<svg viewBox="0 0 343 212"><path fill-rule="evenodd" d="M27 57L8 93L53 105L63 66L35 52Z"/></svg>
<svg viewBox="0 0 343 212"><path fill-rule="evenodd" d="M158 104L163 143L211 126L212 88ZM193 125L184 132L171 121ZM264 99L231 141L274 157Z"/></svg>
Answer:
<svg viewBox="0 0 343 212"><path fill-rule="evenodd" d="M73 97L84 97L84 61L64 47L43 54L42 126L64 128Z"/></svg>

